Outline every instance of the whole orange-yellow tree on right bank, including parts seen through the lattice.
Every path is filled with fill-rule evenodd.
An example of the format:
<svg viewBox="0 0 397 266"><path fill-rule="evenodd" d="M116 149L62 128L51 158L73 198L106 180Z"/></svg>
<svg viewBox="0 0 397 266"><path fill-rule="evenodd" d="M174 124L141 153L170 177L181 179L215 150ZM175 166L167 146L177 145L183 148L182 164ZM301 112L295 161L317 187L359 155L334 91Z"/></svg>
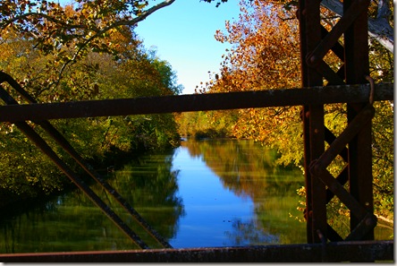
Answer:
<svg viewBox="0 0 397 266"><path fill-rule="evenodd" d="M239 20L227 21L226 31L218 31L215 35L219 41L230 42L232 49L224 56L221 73L201 90L212 93L300 87L299 38L297 21L290 19L293 16L293 10L288 11L280 4L241 0ZM325 27L326 23L334 22L326 16L323 20ZM371 43L369 58L370 74L376 82L393 82L393 56L379 44ZM332 53L325 56L325 61L335 68L338 64ZM393 217L393 104L384 101L374 105L375 207L376 214L390 219ZM234 136L254 139L275 148L281 154L278 163L294 163L302 167L300 107L251 108L238 112L238 119L233 124ZM347 124L346 114L345 104L325 105L325 125L339 135ZM337 174L342 166L342 159L335 160L328 169ZM329 205L330 208L340 206L337 202ZM341 215L344 212L337 210L335 213Z"/></svg>

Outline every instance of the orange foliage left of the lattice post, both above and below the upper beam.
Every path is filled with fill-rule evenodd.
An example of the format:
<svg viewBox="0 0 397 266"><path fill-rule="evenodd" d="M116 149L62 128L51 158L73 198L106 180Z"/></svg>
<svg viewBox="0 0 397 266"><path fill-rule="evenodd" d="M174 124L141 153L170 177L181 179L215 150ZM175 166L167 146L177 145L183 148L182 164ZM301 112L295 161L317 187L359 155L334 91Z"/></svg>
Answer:
<svg viewBox="0 0 397 266"><path fill-rule="evenodd" d="M241 0L240 4L239 19L226 21L226 30L215 33L215 39L233 46L223 56L220 78L207 90L224 92L299 87L298 21L286 19L294 14L284 10L282 4L258 0ZM236 111L238 116L232 125L234 136L263 142L285 151L285 154L293 153L288 157L289 161L300 160L301 154L297 150L301 147L294 142L301 139L299 107Z"/></svg>

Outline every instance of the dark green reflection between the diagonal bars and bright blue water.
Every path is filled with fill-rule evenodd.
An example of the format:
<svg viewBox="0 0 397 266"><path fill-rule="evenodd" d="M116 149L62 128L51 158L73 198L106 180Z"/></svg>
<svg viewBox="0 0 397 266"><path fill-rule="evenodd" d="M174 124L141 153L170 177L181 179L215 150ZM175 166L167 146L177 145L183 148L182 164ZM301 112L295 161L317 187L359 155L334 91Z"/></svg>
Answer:
<svg viewBox="0 0 397 266"><path fill-rule="evenodd" d="M182 198L177 196L179 171L172 171L173 151L148 155L115 172L114 188L158 233L170 239L184 215Z"/></svg>

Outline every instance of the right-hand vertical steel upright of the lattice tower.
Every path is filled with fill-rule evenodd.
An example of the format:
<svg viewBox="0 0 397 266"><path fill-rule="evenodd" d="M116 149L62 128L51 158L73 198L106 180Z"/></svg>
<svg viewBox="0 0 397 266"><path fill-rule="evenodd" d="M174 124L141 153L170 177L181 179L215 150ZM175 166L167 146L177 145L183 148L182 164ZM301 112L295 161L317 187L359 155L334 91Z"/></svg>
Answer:
<svg viewBox="0 0 397 266"><path fill-rule="evenodd" d="M343 1L346 12L354 1ZM369 5L369 1L360 4ZM367 12L362 12L344 34L345 76L347 84L366 83L369 74ZM365 104L348 105L348 123L359 113ZM350 192L368 212L374 211L372 191L372 150L371 122L369 121L357 136L349 143L349 183ZM359 225L359 219L351 216L351 228ZM362 240L373 240L374 230Z"/></svg>

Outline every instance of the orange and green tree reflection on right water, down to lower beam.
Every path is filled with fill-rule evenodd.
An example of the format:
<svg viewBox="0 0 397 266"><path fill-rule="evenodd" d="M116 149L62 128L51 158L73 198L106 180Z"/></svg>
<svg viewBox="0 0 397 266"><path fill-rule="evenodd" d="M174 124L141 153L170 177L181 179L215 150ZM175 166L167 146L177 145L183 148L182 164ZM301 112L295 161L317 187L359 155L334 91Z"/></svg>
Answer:
<svg viewBox="0 0 397 266"><path fill-rule="evenodd" d="M226 232L236 245L301 243L305 239L304 224L289 215L300 215L296 190L304 178L299 169L276 166L275 150L248 140L188 141L182 145L190 154L201 156L225 188L254 202L256 219L236 220L234 230Z"/></svg>

